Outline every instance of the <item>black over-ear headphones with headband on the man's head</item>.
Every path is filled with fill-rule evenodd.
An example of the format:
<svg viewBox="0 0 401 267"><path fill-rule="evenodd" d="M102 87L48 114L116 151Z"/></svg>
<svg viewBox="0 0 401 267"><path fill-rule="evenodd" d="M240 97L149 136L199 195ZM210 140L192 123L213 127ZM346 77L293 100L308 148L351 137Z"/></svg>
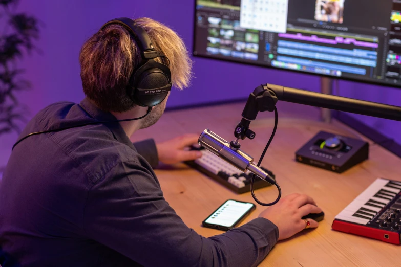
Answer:
<svg viewBox="0 0 401 267"><path fill-rule="evenodd" d="M134 20L127 17L112 19L100 30L111 24L119 24L129 30L141 54L141 62L132 72L126 87L128 96L139 106L152 107L160 104L171 90L171 72L167 65L156 62L154 59L165 56L159 55L149 35Z"/></svg>

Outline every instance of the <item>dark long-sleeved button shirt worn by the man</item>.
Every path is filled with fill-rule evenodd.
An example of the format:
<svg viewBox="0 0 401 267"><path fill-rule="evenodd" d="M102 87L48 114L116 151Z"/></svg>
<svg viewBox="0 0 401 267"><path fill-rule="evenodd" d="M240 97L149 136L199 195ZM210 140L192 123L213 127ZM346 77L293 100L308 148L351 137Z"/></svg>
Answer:
<svg viewBox="0 0 401 267"><path fill-rule="evenodd" d="M41 110L21 137L104 120L116 118L87 99L56 103ZM265 258L277 242L275 225L258 218L221 235L198 235L163 197L152 169L158 162L153 140L135 146L118 122L18 144L0 186L3 258L42 267L243 267Z"/></svg>

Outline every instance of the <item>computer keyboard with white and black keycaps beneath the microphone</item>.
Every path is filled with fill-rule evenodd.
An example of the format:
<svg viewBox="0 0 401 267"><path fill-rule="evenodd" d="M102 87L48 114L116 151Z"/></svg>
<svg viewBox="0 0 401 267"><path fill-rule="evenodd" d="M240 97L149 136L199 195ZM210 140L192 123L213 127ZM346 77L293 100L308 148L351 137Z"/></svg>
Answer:
<svg viewBox="0 0 401 267"><path fill-rule="evenodd" d="M191 149L199 150L202 153L202 158L196 159L195 161L188 161L186 162L187 165L202 172L203 174L206 174L210 178L216 180L220 184L238 194L250 191L250 181L252 179L251 172L247 171L246 173L243 173L203 147L192 147ZM272 177L275 177L270 170L263 167L261 167L261 169ZM256 177L254 189L259 189L266 186L270 186L270 184Z"/></svg>

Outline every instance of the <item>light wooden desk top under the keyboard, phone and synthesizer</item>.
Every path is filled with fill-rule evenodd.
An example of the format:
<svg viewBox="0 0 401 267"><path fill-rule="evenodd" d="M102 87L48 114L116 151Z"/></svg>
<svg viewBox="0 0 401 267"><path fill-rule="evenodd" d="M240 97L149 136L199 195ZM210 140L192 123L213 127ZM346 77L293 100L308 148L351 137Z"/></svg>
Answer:
<svg viewBox="0 0 401 267"><path fill-rule="evenodd" d="M184 133L201 133L205 128L226 140L234 138L244 103L166 112L154 126L135 133L132 140L149 137L165 141ZM318 131L325 130L350 137L361 137L349 127L333 121L318 121L319 110L290 103L278 103L279 124L275 139L262 163L277 177L283 196L298 192L312 196L326 216L315 230L304 230L276 244L260 266L401 266L399 246L331 230L334 216L364 191L377 177L401 181L401 159L382 147L370 146L370 159L343 174L336 174L294 161L294 152ZM245 152L259 159L274 124L273 114L260 113L251 123L254 140L245 140ZM201 222L229 198L255 203L250 193L235 194L207 176L179 164L171 170L157 170L164 196L184 222L199 234L209 237L222 233L201 227ZM256 191L264 202L277 197L275 187ZM257 205L245 222L264 209Z"/></svg>

